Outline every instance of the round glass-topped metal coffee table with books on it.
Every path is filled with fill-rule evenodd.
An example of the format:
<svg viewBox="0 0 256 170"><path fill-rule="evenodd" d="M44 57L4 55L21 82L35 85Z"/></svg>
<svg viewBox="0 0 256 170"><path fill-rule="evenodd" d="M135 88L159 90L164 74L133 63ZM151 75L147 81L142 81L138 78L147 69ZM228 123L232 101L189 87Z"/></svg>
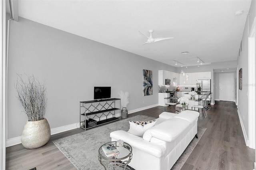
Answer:
<svg viewBox="0 0 256 170"><path fill-rule="evenodd" d="M116 146L116 141L108 142L103 145ZM98 159L100 161L100 164L104 166L105 170L107 170L107 167L114 167L114 169L116 169L117 167L120 166L123 166L124 169L126 169L126 166L132 160L132 146L130 146L130 144L124 142L124 146L116 146L117 150L119 151L119 154L116 154L111 157L107 157L104 154L102 146L100 146L99 148Z"/></svg>

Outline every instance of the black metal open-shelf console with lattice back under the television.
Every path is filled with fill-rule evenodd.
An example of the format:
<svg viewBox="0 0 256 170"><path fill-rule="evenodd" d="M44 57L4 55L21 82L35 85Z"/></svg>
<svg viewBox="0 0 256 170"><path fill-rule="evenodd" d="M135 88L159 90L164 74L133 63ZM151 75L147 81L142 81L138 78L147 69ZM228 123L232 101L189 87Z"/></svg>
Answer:
<svg viewBox="0 0 256 170"><path fill-rule="evenodd" d="M88 120L97 121L88 125ZM84 130L121 119L121 99L80 101L80 127ZM87 121L86 121L87 120Z"/></svg>

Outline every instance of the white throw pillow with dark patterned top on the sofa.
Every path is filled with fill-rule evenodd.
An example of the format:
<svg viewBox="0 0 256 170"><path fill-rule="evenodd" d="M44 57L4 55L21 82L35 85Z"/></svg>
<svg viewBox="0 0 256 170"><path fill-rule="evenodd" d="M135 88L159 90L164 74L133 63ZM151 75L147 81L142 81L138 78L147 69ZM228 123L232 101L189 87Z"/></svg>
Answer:
<svg viewBox="0 0 256 170"><path fill-rule="evenodd" d="M156 120L154 121L130 121L130 129L129 133L134 134L136 136L142 137L144 132L151 127L154 127L156 124Z"/></svg>

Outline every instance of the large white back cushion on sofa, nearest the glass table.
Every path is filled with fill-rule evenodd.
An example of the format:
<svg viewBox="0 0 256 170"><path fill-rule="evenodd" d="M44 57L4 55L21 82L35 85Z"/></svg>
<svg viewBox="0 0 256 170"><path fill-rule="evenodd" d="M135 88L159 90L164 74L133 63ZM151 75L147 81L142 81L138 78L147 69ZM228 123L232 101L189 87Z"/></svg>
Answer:
<svg viewBox="0 0 256 170"><path fill-rule="evenodd" d="M172 117L162 123L146 130L143 139L150 142L152 137L171 142L175 140L190 125L189 121Z"/></svg>

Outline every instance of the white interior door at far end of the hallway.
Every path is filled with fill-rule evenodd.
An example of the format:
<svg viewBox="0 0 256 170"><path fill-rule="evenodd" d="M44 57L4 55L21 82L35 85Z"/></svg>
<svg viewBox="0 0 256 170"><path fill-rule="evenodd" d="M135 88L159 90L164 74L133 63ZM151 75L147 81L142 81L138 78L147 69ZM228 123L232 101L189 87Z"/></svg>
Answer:
<svg viewBox="0 0 256 170"><path fill-rule="evenodd" d="M220 100L234 100L233 73L220 73Z"/></svg>

